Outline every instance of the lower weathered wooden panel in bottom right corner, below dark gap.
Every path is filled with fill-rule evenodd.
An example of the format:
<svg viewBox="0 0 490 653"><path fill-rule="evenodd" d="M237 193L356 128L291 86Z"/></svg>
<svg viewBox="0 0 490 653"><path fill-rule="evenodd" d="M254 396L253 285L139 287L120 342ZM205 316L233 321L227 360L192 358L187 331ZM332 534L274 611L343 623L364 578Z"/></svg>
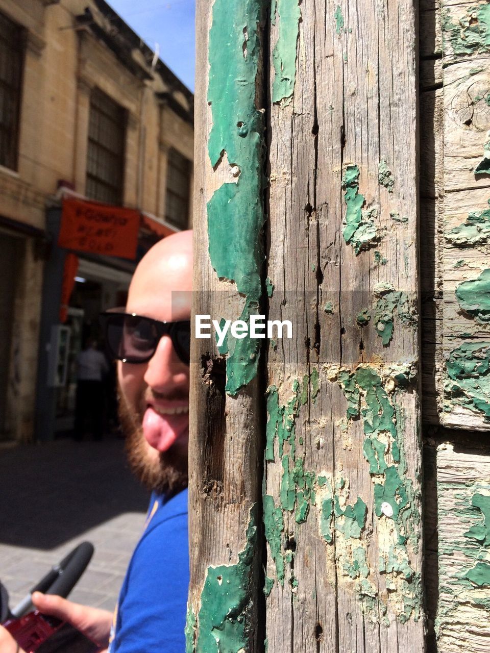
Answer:
<svg viewBox="0 0 490 653"><path fill-rule="evenodd" d="M483 653L490 641L490 456L440 445L437 486L438 651Z"/></svg>

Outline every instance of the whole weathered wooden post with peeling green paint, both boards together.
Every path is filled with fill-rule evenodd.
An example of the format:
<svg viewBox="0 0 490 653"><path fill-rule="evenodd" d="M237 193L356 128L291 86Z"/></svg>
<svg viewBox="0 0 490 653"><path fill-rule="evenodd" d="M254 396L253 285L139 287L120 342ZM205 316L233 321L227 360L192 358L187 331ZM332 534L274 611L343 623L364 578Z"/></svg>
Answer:
<svg viewBox="0 0 490 653"><path fill-rule="evenodd" d="M198 3L195 313L293 337L193 340L188 652L423 652L414 2L264 7Z"/></svg>

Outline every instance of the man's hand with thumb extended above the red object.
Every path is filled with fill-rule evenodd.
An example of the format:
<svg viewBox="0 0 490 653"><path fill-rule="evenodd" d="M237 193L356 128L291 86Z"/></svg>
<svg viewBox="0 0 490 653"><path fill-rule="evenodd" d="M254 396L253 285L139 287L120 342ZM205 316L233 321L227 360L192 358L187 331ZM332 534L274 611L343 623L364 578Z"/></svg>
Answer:
<svg viewBox="0 0 490 653"><path fill-rule="evenodd" d="M110 626L112 625L112 613L107 610L99 610L87 605L73 603L54 594L34 592L31 598L39 612L69 622L95 644L101 648L107 648ZM0 647L0 651L3 653L3 648ZM5 649L5 653L7 653L7 649ZM15 653L15 648L12 653Z"/></svg>

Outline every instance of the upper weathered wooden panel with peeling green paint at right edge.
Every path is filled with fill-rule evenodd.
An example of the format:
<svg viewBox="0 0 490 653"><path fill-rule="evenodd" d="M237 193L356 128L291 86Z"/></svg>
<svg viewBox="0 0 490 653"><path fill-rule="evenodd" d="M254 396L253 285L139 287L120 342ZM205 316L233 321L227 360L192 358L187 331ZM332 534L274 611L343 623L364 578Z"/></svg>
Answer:
<svg viewBox="0 0 490 653"><path fill-rule="evenodd" d="M490 27L487 9L483 2L442 2L444 174L438 251L444 304L436 392L442 424L478 430L490 430L490 375L482 369L482 360L490 362L485 344L490 341L489 289L485 291L490 183L489 174L478 174L479 166L487 166L490 129L490 48L482 40L487 23ZM476 243L468 239L468 219L482 223L476 226L483 230ZM468 304L468 290L474 289Z"/></svg>

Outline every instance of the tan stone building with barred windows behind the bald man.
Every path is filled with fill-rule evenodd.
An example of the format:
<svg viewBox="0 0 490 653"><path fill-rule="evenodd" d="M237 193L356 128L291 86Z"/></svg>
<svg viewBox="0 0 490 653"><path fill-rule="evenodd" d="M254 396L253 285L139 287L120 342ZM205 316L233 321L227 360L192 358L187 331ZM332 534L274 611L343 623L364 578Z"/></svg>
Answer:
<svg viewBox="0 0 490 653"><path fill-rule="evenodd" d="M0 440L69 428L82 338L191 223L192 159L193 94L104 0L0 0ZM134 260L74 251L60 319L66 197L141 221Z"/></svg>

